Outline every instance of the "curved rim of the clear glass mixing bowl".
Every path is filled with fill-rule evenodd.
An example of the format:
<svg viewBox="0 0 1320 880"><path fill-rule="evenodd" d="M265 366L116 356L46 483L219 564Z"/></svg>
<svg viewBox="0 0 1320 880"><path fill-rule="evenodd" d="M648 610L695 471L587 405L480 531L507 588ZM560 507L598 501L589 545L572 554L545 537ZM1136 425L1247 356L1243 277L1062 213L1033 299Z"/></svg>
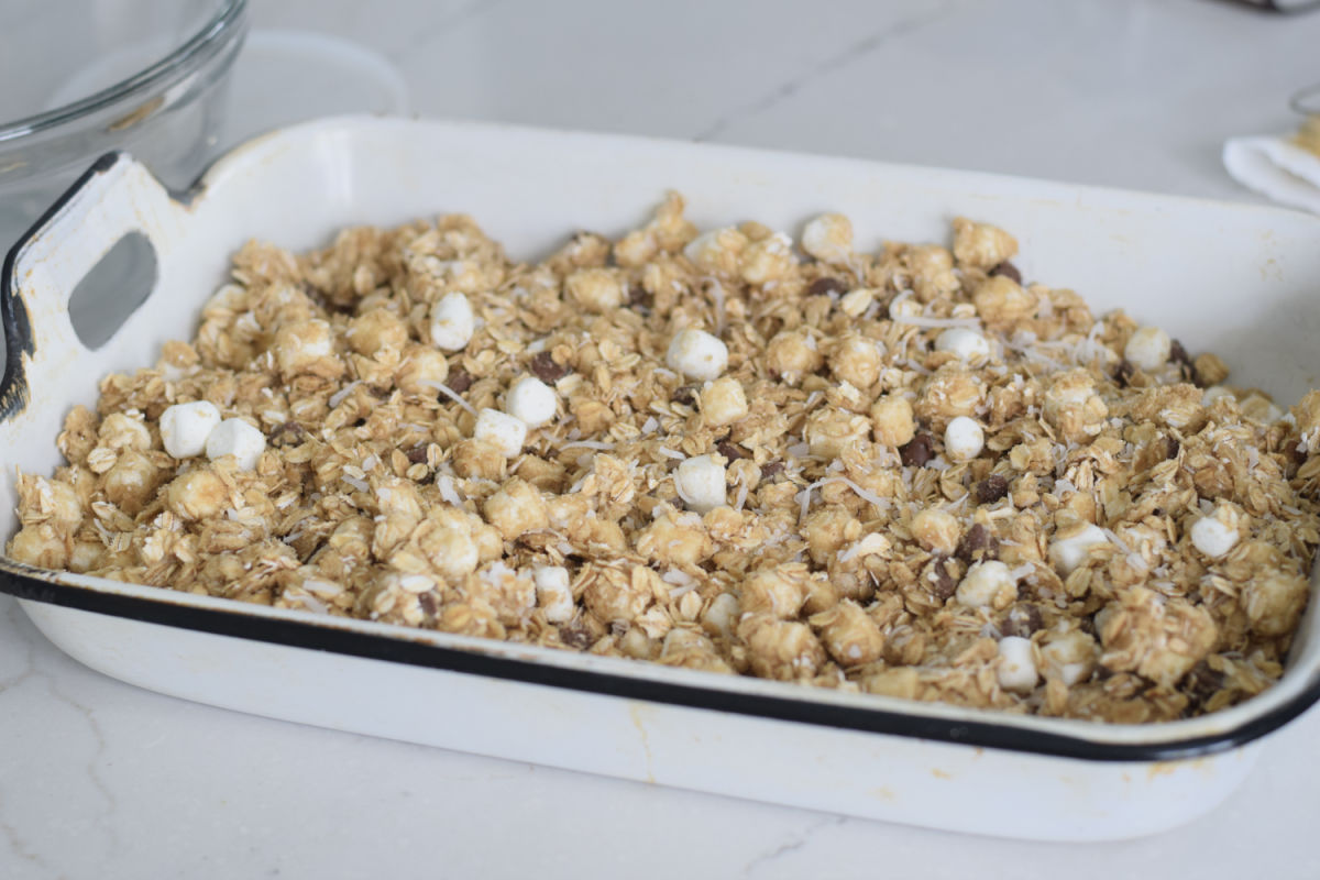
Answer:
<svg viewBox="0 0 1320 880"><path fill-rule="evenodd" d="M83 116L114 107L116 103L150 94L157 86L172 82L180 74L189 73L197 59L205 61L216 45L223 45L232 36L242 33L246 7L247 0L226 0L219 11L178 49L128 79L44 113L25 116L15 121L0 120L0 142L49 132L67 123L74 123Z"/></svg>

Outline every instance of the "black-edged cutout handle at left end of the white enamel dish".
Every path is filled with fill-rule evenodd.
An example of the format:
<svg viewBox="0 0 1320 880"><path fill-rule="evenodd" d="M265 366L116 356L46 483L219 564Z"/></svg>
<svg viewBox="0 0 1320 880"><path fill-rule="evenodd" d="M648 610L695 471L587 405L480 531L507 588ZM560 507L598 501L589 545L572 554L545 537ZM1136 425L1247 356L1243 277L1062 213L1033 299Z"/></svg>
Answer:
<svg viewBox="0 0 1320 880"><path fill-rule="evenodd" d="M115 152L96 160L18 240L0 274L7 346L0 422L28 405L34 375L45 379L61 365L86 360L87 348L69 317L69 297L83 276L129 232L147 237L158 265L185 212L144 165Z"/></svg>

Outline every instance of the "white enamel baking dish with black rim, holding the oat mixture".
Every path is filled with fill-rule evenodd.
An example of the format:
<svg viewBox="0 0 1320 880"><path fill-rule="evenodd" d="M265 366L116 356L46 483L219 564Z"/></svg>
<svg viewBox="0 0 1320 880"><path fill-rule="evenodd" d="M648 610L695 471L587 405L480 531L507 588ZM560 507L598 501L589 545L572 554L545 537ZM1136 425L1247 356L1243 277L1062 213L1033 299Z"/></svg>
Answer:
<svg viewBox="0 0 1320 880"><path fill-rule="evenodd" d="M172 195L124 154L96 162L9 253L0 389L0 537L15 468L49 474L54 438L98 379L190 338L247 239L294 251L348 224L474 215L515 257L577 228L618 235L667 189L698 226L796 231L822 210L858 247L945 240L958 214L1022 243L1032 278L1096 311L1123 306L1234 381L1283 404L1316 379L1320 219L986 174L495 125L334 119L276 132ZM125 234L158 265L148 299L88 350L69 317L84 273ZM1287 674L1206 718L1101 726L816 693L370 621L330 619L0 559L59 648L123 681L247 712L631 780L981 834L1148 834L1222 801L1261 738L1320 695L1315 608Z"/></svg>

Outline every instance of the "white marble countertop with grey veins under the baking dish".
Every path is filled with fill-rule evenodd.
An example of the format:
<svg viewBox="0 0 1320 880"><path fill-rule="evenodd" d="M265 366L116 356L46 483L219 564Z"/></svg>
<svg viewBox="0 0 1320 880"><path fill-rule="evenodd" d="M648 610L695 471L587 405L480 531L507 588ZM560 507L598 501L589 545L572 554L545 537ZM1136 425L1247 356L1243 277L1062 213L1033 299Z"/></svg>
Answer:
<svg viewBox="0 0 1320 880"><path fill-rule="evenodd" d="M253 0L387 53L414 110L1250 199L1320 15L1212 0ZM240 62L242 63L242 59ZM1031 844L619 782L193 705L0 599L0 876L1320 876L1320 711L1148 839Z"/></svg>

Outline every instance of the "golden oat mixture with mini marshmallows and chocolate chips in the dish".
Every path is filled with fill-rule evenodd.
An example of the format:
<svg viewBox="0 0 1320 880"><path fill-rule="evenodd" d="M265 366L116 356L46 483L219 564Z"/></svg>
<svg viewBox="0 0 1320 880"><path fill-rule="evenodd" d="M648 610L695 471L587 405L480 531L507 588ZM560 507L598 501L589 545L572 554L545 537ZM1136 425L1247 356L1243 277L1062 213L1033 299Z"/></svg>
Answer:
<svg viewBox="0 0 1320 880"><path fill-rule="evenodd" d="M1307 603L1320 392L1284 414L1005 231L510 260L467 216L249 243L197 339L21 475L13 558L242 602L1016 712L1265 690ZM1084 278L1078 281L1085 282Z"/></svg>

